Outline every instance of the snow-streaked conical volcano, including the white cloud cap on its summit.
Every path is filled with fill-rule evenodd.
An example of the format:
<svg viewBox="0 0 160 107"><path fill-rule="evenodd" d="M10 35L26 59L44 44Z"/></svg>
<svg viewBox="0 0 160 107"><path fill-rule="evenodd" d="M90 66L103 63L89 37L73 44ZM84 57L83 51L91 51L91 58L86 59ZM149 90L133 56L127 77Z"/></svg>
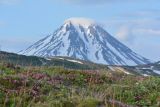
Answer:
<svg viewBox="0 0 160 107"><path fill-rule="evenodd" d="M53 34L20 52L51 58L67 56L108 65L137 65L150 61L120 43L95 22L71 18Z"/></svg>

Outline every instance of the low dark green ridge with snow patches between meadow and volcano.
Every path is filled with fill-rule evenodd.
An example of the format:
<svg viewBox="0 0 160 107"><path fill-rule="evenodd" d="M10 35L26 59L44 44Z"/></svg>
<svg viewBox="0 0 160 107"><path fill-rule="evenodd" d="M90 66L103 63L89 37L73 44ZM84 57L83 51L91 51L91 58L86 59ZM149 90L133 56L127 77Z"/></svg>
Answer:
<svg viewBox="0 0 160 107"><path fill-rule="evenodd" d="M3 63L24 67L63 67L74 70L106 70L111 73L122 72L127 75L160 76L159 62L138 66L102 65L70 57L53 57L47 59L0 51L0 64Z"/></svg>

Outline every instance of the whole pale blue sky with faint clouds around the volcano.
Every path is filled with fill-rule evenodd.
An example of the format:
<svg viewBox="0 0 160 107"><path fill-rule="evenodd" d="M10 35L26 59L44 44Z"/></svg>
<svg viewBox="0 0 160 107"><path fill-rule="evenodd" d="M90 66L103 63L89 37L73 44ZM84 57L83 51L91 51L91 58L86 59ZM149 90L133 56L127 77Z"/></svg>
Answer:
<svg viewBox="0 0 160 107"><path fill-rule="evenodd" d="M26 49L72 17L92 19L136 53L160 60L160 0L0 0L0 48Z"/></svg>

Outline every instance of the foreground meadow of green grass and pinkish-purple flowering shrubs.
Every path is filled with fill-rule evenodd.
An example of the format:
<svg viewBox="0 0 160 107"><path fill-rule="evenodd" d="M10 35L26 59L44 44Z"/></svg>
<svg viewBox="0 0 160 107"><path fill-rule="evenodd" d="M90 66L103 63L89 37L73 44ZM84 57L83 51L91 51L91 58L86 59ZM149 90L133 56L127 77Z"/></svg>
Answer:
<svg viewBox="0 0 160 107"><path fill-rule="evenodd" d="M160 78L0 65L0 107L159 107Z"/></svg>

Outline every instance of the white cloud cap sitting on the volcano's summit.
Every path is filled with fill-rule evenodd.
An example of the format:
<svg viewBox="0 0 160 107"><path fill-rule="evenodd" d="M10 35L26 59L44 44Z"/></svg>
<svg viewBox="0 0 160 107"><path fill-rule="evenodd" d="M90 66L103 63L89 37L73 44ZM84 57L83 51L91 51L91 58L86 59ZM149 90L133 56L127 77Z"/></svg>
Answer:
<svg viewBox="0 0 160 107"><path fill-rule="evenodd" d="M75 26L82 26L84 28L88 28L91 25L95 25L95 21L87 18L69 18L65 20L65 24L71 23Z"/></svg>

